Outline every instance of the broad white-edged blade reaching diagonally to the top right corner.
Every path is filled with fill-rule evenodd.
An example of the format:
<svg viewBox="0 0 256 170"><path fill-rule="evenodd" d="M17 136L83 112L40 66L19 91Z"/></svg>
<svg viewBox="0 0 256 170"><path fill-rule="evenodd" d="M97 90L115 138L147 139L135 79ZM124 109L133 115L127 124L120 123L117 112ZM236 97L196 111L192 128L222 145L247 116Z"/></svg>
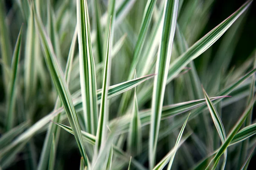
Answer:
<svg viewBox="0 0 256 170"><path fill-rule="evenodd" d="M244 5L242 5L236 12L230 15L230 17L228 17L218 26L213 28L212 31L210 31L208 34L198 40L180 57L175 59L169 66L168 78L166 83L168 84L169 82L171 82L172 79L174 79L190 61L200 56L214 42L216 42L224 34L224 32L227 31L228 28L230 28L230 26L236 21L236 19L250 6L251 2L251 0L248 0L246 3L244 3ZM149 98L148 94L150 93L151 89L152 87L149 86L144 89L143 95L138 94L138 101L142 99L146 101L145 98Z"/></svg>

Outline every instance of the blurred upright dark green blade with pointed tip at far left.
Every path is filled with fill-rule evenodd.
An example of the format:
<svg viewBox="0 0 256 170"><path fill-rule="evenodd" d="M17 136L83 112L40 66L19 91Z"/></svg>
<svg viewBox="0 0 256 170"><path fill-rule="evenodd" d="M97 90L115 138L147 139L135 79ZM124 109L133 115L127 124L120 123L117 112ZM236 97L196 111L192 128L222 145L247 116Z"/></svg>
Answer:
<svg viewBox="0 0 256 170"><path fill-rule="evenodd" d="M11 79L9 80L8 85L8 94L7 94L7 121L6 121L6 131L10 130L14 126L15 120L15 100L16 100L16 86L17 86L17 77L18 77L18 64L20 59L20 50L21 50L21 31L17 37L16 45L12 55L12 66L11 66Z"/></svg>

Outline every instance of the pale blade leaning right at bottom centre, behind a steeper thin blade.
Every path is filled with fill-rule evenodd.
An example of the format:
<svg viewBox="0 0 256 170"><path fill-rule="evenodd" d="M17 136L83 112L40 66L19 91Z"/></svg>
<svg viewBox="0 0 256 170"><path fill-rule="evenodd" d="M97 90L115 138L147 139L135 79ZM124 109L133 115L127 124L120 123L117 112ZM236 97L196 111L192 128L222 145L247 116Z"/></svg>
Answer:
<svg viewBox="0 0 256 170"><path fill-rule="evenodd" d="M172 150L170 150L169 153L167 153L166 156L160 162L158 162L158 164L155 167L153 167L153 170L163 170L166 164L168 164L168 162L170 161L172 155L176 153L177 149L180 148L180 146L185 142L188 136L189 135L187 135L185 139L179 142L179 144L176 147L173 147Z"/></svg>

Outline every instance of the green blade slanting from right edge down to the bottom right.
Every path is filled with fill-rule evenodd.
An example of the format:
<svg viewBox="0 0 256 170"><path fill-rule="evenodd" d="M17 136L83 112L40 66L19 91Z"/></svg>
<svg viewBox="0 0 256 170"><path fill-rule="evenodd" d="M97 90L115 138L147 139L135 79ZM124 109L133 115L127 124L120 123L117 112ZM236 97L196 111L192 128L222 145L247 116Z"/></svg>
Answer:
<svg viewBox="0 0 256 170"><path fill-rule="evenodd" d="M238 132L240 127L243 125L245 119L250 114L250 110L252 109L253 104L255 103L255 101L256 101L256 98L254 98L253 101L250 102L250 104L247 106L246 110L244 111L244 113L242 114L242 116L240 117L238 122L236 122L236 125L233 127L231 132L229 133L229 135L228 135L227 139L225 140L225 142L221 145L221 147L218 149L218 152L215 154L214 158L208 164L208 166L206 168L207 170L210 168L212 163L214 165L213 167L217 166L218 161L219 161L221 155L225 152L225 150L227 149L228 145L230 144L230 142L232 141L232 139L234 138L234 136L236 135L236 133Z"/></svg>

